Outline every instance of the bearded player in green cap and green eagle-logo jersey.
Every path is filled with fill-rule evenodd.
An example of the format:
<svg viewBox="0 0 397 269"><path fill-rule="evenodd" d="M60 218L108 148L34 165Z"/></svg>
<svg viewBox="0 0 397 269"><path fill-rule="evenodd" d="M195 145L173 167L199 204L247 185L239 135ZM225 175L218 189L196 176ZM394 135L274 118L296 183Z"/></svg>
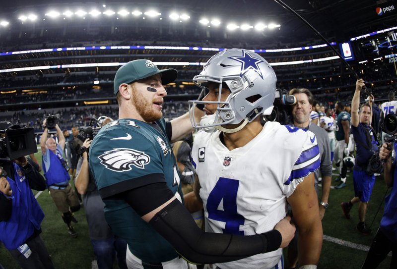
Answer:
<svg viewBox="0 0 397 269"><path fill-rule="evenodd" d="M170 141L194 129L189 113L166 122L162 104L175 69L150 60L128 62L116 73L119 120L105 125L91 144L89 165L113 232L127 240L129 268L186 269L242 259L285 247L295 226L290 217L264 234L239 236L201 231L183 206L180 173ZM195 110L196 120L203 115Z"/></svg>

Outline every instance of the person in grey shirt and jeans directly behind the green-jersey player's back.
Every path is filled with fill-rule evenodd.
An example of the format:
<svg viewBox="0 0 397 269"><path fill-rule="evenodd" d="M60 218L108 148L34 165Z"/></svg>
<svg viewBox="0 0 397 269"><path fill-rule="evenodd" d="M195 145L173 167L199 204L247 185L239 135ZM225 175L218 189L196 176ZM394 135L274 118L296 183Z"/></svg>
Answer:
<svg viewBox="0 0 397 269"><path fill-rule="evenodd" d="M98 118L98 123L102 126L113 121L106 117ZM101 127L102 127L101 126ZM92 140L85 139L82 146L77 150L81 155L77 163L77 171L75 178L75 186L77 191L83 195L83 204L85 215L88 222L88 230L96 256L96 261L99 269L113 268L113 262L116 258L120 269L127 269L126 251L127 242L115 236L105 219L103 208L105 204L99 196L95 185L95 180L92 177L88 166L89 147Z"/></svg>

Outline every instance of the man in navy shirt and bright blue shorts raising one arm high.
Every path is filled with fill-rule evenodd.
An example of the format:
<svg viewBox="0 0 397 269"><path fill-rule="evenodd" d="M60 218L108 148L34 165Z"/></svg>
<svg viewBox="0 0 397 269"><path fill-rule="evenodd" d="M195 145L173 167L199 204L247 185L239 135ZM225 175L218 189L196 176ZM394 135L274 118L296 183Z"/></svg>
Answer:
<svg viewBox="0 0 397 269"><path fill-rule="evenodd" d="M364 80L358 79L356 82L356 90L351 101L351 132L356 143L356 163L353 167L353 184L354 197L346 203L342 203L343 214L347 219L350 218L350 210L353 205L359 202L358 217L359 222L356 229L363 234L370 234L365 224L365 214L372 188L375 183L375 175L370 171L372 160L371 157L378 151L378 141L374 136L371 126L372 119L372 102L374 97L369 97L369 103L360 105L360 92L364 87Z"/></svg>

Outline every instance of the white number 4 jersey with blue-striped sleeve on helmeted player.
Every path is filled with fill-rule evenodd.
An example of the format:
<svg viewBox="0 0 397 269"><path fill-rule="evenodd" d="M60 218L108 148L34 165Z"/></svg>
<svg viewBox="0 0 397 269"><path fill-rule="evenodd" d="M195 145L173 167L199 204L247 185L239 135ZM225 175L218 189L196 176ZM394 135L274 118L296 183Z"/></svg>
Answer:
<svg viewBox="0 0 397 269"><path fill-rule="evenodd" d="M241 235L272 230L287 213L286 198L319 167L315 135L306 129L266 122L248 144L229 151L219 134L199 131L192 150L206 230ZM280 248L217 266L272 268L281 254Z"/></svg>

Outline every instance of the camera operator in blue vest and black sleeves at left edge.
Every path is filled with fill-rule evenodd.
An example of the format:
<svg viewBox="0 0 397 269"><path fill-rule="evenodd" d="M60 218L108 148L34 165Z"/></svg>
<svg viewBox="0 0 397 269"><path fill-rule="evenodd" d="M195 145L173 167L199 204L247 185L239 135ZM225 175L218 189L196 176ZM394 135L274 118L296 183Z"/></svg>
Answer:
<svg viewBox="0 0 397 269"><path fill-rule="evenodd" d="M0 130L20 129L0 122ZM54 268L40 237L44 213L31 189L46 189L44 177L26 157L0 161L0 241L22 268Z"/></svg>

